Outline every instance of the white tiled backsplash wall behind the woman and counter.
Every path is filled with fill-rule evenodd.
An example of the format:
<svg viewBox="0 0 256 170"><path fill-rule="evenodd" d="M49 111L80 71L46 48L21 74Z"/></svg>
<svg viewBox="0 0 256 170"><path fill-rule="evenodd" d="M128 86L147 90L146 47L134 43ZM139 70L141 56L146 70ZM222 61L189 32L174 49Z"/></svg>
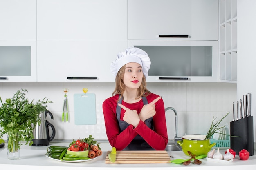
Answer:
<svg viewBox="0 0 256 170"><path fill-rule="evenodd" d="M102 112L103 101L112 95L114 82L0 82L0 95L4 102L6 98L21 88L27 89L29 101L44 97L53 101L47 109L54 119L47 117L56 129L54 139L79 139L92 135L95 139L107 139L105 122ZM62 122L64 92L68 88L69 121ZM75 93L83 93L82 88L88 88L88 93L96 94L96 125L75 125L74 97ZM228 112L223 124L232 121L232 102L236 101L236 84L231 83L186 83L186 82L148 82L152 93L162 96L166 107L173 107L178 115L178 136L185 134L206 134L214 117L221 119ZM2 106L2 104L0 104ZM175 114L172 110L166 112L168 139L175 135ZM4 135L3 139L7 139Z"/></svg>

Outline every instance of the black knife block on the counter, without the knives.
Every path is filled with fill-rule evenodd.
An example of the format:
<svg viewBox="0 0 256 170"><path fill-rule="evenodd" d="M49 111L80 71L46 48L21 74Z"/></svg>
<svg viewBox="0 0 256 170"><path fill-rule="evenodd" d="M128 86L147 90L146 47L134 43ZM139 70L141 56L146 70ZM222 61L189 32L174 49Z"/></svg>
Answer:
<svg viewBox="0 0 256 170"><path fill-rule="evenodd" d="M253 116L230 122L230 148L239 155L239 151L246 149L250 156L254 155Z"/></svg>

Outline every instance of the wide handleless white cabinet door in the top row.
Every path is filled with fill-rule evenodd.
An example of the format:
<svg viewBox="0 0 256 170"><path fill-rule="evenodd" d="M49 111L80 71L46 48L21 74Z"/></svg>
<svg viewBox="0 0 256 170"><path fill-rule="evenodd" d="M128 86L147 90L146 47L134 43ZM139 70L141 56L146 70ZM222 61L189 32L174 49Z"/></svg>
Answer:
<svg viewBox="0 0 256 170"><path fill-rule="evenodd" d="M127 0L37 0L38 40L127 40Z"/></svg>

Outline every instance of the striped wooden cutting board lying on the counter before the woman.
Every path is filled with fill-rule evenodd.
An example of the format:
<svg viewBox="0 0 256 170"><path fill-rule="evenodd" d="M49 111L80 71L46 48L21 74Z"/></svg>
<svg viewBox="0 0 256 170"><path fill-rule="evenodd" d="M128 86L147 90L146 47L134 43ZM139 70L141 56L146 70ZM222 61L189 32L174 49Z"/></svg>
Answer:
<svg viewBox="0 0 256 170"><path fill-rule="evenodd" d="M108 159L107 152L105 163L113 163ZM143 151L117 151L115 163L170 163L170 157L165 150Z"/></svg>

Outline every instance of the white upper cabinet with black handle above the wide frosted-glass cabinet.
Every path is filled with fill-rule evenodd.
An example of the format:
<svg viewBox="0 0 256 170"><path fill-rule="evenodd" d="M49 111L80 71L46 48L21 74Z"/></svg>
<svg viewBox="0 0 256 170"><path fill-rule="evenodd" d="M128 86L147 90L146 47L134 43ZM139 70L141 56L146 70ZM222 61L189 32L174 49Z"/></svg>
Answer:
<svg viewBox="0 0 256 170"><path fill-rule="evenodd" d="M218 40L218 0L128 0L128 40Z"/></svg>

